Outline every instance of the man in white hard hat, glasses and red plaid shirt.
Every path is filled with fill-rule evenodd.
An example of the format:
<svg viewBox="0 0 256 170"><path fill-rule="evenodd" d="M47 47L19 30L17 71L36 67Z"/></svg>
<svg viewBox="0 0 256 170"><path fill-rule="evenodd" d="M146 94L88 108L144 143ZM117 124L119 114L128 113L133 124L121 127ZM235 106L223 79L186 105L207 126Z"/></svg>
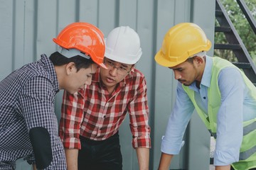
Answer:
<svg viewBox="0 0 256 170"><path fill-rule="evenodd" d="M85 90L63 96L60 137L68 169L122 169L118 130L127 113L139 169L149 169L146 80L134 68L142 56L139 35L121 26L105 43L107 69L97 69Z"/></svg>

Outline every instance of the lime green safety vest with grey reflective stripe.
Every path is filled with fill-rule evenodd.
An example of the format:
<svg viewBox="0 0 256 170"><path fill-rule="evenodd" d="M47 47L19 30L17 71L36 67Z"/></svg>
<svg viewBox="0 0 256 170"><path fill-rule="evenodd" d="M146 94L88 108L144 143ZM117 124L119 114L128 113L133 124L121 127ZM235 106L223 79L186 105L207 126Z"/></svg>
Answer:
<svg viewBox="0 0 256 170"><path fill-rule="evenodd" d="M188 86L183 85L183 89L193 102L198 115L203 120L203 123L205 123L206 128L208 128L208 130L213 134L215 139L217 137L217 114L221 105L220 89L218 87L218 74L220 73L220 70L225 67L234 67L238 69L238 67L235 67L227 60L223 60L220 57L213 57L213 69L211 70L212 77L210 80L210 88L208 89L208 114L204 113L204 111L198 107L194 97L195 92L189 89ZM238 70L240 71L240 69ZM255 98L256 103L256 87L243 72L241 72L241 74L246 86L250 90L251 96ZM256 167L256 118L243 122L243 137L242 145L240 147L239 162L233 163L232 166L236 170L247 170Z"/></svg>

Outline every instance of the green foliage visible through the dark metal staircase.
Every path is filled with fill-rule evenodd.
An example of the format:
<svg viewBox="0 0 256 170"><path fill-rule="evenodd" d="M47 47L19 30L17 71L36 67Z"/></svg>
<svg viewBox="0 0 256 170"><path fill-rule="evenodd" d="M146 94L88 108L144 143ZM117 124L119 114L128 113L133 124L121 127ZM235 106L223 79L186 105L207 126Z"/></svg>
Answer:
<svg viewBox="0 0 256 170"><path fill-rule="evenodd" d="M247 22L244 14L240 10L240 7L236 0L220 0L223 4L225 10L230 17L235 29L238 31L242 42L244 43L247 51L249 52L252 60L256 63L256 35L253 32L250 24ZM256 1L245 0L245 4L251 11L251 14L256 18ZM215 26L218 26L218 21L215 20ZM228 43L225 40L225 35L223 33L215 33L215 43L223 44ZM236 58L232 51L230 50L215 50L214 55L223 57L231 62L235 62Z"/></svg>

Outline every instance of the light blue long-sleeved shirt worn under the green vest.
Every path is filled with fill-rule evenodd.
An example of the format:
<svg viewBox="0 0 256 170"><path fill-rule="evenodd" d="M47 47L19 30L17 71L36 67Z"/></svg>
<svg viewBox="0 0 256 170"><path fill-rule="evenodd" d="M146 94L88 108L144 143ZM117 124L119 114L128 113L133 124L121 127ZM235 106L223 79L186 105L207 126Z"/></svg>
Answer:
<svg viewBox="0 0 256 170"><path fill-rule="evenodd" d="M195 98L203 111L208 111L208 88L210 88L213 59L206 56L206 67L203 72L200 89L194 82L189 86L196 91ZM247 86L238 70L227 67L218 77L221 93L221 106L218 111L217 140L214 154L214 165L228 165L239 160L242 142L242 121L256 118L255 101L248 93ZM183 134L194 111L188 95L178 82L174 109L171 112L166 133L162 139L161 152L178 154L183 145Z"/></svg>

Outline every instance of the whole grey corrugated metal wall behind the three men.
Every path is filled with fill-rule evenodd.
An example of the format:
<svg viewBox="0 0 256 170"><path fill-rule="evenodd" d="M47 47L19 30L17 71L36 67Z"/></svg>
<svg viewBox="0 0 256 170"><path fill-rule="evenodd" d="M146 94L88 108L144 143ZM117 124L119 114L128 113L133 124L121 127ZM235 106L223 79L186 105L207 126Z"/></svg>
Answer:
<svg viewBox="0 0 256 170"><path fill-rule="evenodd" d="M212 0L0 0L0 80L23 64L38 60L42 53L55 52L52 38L69 23L89 22L105 35L117 26L134 28L141 38L143 51L137 68L145 74L148 86L152 128L150 169L157 169L161 136L174 104L176 81L169 69L154 62L154 55L166 31L176 23L195 22L213 41L214 10ZM61 95L56 98L58 117ZM120 130L124 170L138 169L128 119ZM207 169L209 137L201 127L201 120L194 114L186 145L181 154L174 157L171 169ZM196 140L199 137L202 140ZM196 157L192 157L194 155ZM30 166L20 159L17 169L30 169Z"/></svg>

